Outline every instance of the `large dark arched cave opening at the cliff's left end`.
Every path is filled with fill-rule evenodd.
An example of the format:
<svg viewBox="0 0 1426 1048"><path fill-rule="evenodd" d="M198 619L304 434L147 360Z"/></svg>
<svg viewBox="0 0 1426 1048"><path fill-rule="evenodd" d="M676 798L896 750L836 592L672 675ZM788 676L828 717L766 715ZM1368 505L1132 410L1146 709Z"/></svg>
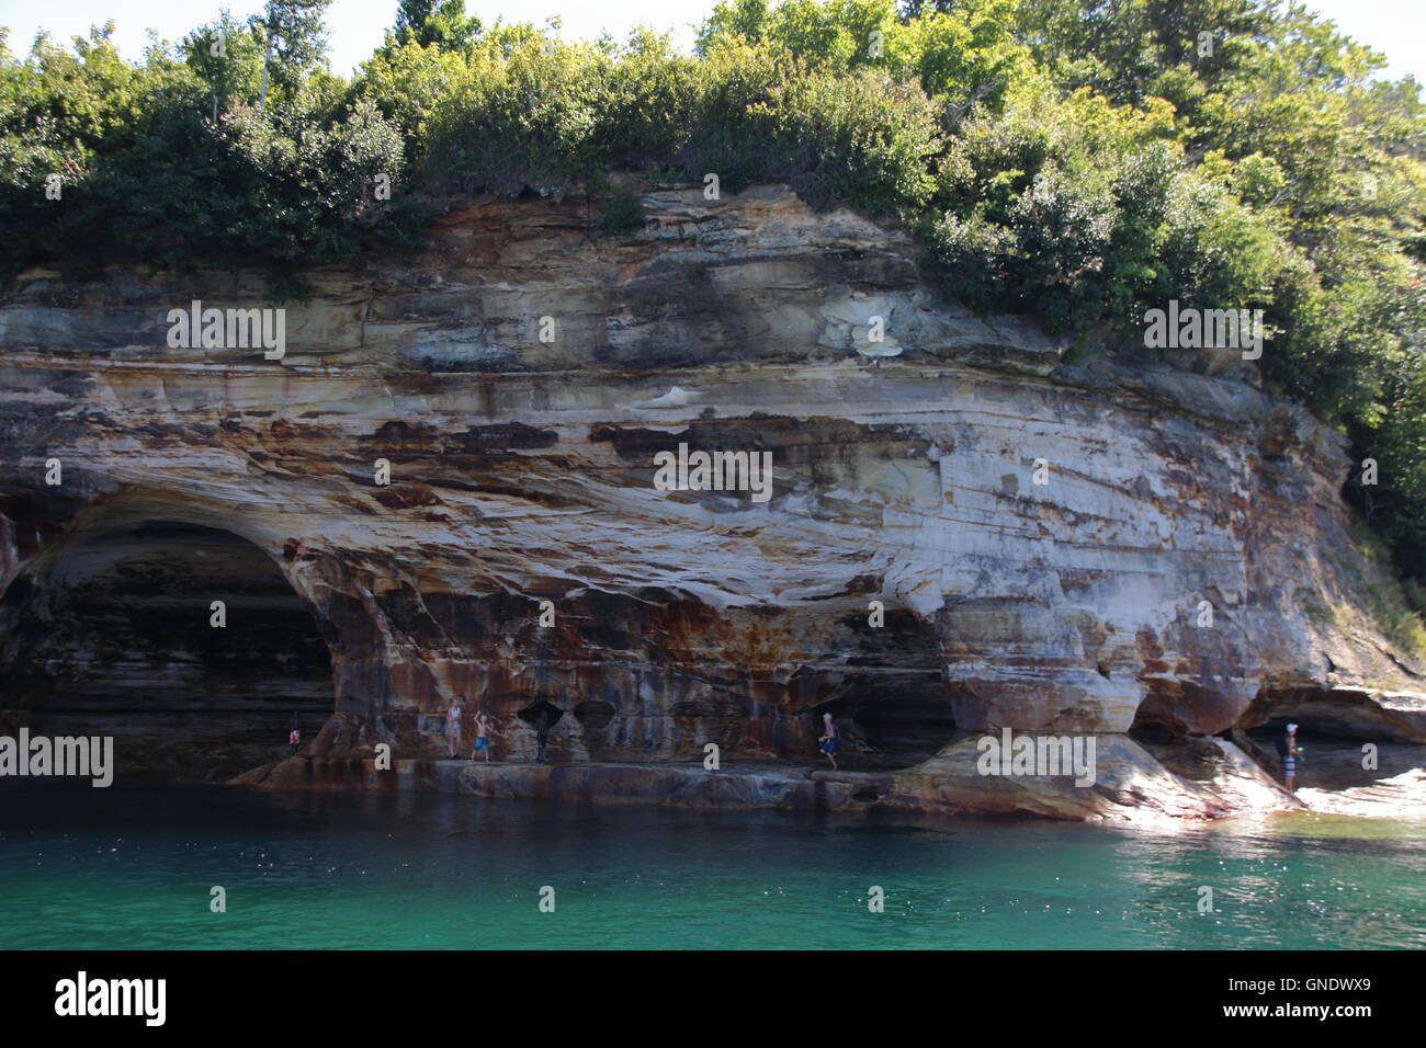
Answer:
<svg viewBox="0 0 1426 1048"><path fill-rule="evenodd" d="M212 625L221 600L225 625ZM222 780L332 711L331 649L281 569L232 532L81 530L0 597L0 719L114 736L117 779Z"/></svg>

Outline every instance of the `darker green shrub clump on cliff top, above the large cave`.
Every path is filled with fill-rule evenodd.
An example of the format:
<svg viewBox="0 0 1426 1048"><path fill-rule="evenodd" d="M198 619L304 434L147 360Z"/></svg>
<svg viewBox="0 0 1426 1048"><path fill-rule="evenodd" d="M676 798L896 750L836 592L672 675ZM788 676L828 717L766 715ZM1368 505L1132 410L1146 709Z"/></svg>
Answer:
<svg viewBox="0 0 1426 1048"><path fill-rule="evenodd" d="M376 175L401 175L401 137L339 80L314 74L258 110L215 96L177 54L128 66L110 30L73 57L41 40L17 61L0 43L7 268L133 260L278 278L354 260L399 225Z"/></svg>

